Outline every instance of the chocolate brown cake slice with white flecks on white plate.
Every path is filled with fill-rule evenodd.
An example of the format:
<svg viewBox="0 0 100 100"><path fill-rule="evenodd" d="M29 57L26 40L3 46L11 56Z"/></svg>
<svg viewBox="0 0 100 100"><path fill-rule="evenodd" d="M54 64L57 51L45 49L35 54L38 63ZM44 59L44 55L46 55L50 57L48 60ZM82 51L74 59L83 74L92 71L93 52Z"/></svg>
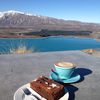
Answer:
<svg viewBox="0 0 100 100"><path fill-rule="evenodd" d="M30 87L47 100L59 100L64 95L64 86L41 76L30 82Z"/></svg>

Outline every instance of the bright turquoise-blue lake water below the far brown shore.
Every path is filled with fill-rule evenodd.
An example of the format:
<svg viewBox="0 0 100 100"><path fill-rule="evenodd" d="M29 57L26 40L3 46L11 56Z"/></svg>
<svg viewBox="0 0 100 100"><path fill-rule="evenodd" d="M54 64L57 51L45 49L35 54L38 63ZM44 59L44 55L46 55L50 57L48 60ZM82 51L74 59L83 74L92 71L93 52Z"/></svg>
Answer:
<svg viewBox="0 0 100 100"><path fill-rule="evenodd" d="M0 53L11 53L12 50L25 47L32 52L82 50L88 48L100 48L100 41L92 38L76 37L46 37L27 39L0 39Z"/></svg>

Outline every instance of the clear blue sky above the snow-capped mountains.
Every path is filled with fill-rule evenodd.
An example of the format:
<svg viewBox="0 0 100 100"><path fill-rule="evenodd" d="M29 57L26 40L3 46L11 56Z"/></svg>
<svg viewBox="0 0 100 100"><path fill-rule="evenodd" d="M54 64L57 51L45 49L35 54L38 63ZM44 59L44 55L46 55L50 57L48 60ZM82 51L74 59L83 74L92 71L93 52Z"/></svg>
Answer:
<svg viewBox="0 0 100 100"><path fill-rule="evenodd" d="M0 0L0 11L8 10L100 23L100 0Z"/></svg>

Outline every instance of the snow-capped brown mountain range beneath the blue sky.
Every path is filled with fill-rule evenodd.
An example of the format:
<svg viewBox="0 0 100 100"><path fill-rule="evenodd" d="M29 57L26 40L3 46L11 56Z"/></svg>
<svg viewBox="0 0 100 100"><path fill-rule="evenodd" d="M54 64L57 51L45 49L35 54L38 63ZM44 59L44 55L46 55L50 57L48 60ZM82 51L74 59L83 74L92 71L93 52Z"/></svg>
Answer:
<svg viewBox="0 0 100 100"><path fill-rule="evenodd" d="M0 28L27 28L32 31L100 31L100 24L63 20L19 11L0 12Z"/></svg>

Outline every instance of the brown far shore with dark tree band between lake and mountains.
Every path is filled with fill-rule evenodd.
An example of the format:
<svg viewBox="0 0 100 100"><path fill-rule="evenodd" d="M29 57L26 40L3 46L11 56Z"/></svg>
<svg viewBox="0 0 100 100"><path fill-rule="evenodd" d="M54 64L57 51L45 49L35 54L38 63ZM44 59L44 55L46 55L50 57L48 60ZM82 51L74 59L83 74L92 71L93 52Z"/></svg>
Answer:
<svg viewBox="0 0 100 100"><path fill-rule="evenodd" d="M92 31L62 31L62 30L47 30L29 31L28 29L1 28L0 38L42 38L49 36L74 36L82 38L94 38L100 40L100 32Z"/></svg>

